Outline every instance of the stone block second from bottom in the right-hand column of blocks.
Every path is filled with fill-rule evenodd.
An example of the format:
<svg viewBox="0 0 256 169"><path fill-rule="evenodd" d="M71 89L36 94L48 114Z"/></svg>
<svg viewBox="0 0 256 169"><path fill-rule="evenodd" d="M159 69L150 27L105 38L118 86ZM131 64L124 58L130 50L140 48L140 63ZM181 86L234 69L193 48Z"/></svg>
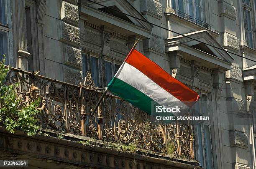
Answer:
<svg viewBox="0 0 256 169"><path fill-rule="evenodd" d="M232 130L229 132L230 146L241 147L244 149L248 148L248 138L246 133Z"/></svg>

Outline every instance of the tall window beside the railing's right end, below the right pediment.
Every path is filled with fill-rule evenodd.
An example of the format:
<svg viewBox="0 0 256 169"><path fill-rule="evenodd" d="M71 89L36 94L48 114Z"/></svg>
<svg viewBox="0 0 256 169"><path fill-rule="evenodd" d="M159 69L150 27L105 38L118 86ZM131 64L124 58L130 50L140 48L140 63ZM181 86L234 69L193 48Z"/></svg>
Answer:
<svg viewBox="0 0 256 169"><path fill-rule="evenodd" d="M200 101L195 103L195 116L210 116L211 94L199 92ZM195 157L205 169L213 169L210 121L197 121L195 124Z"/></svg>

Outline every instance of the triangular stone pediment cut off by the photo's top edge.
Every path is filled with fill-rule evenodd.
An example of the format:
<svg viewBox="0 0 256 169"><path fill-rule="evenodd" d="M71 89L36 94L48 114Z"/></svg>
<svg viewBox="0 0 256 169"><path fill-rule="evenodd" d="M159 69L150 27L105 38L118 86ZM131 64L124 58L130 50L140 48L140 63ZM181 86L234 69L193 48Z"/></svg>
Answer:
<svg viewBox="0 0 256 169"><path fill-rule="evenodd" d="M145 17L143 17L141 15L140 12L138 12L138 10L136 10L135 7L133 7L133 5L131 5L127 0L97 0L97 3L100 3L101 5L107 6L107 7L111 7L115 10L118 10L120 12L123 12L125 14L131 15L133 17L121 14L119 12L116 12L114 10L110 10L108 8L102 7L101 5L92 3L90 1L85 1L84 4L86 4L87 6L102 10L103 12L107 12L110 15L113 15L115 17L120 18L121 20L125 20L128 22L133 23L136 26L142 27L143 29L146 29L148 31L151 31L153 26L147 22L143 22L142 20L146 20ZM137 17L141 20L138 20L134 17Z"/></svg>

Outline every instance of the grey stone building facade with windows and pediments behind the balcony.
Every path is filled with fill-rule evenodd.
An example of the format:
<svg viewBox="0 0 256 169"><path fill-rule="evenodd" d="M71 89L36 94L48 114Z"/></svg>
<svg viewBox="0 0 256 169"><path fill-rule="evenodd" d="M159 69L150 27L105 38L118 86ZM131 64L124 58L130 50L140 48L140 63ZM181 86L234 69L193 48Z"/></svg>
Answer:
<svg viewBox="0 0 256 169"><path fill-rule="evenodd" d="M255 32L255 0L0 1L0 55L57 81L79 85L89 70L106 87L139 39L138 51L200 94L195 113L210 122L195 124L193 154L205 169L256 169Z"/></svg>

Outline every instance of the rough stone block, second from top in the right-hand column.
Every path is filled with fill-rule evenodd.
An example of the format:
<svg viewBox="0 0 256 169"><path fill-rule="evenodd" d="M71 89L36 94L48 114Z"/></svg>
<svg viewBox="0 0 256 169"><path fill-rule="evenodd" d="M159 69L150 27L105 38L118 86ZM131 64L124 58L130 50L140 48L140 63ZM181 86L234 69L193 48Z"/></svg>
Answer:
<svg viewBox="0 0 256 169"><path fill-rule="evenodd" d="M223 47L230 47L231 50L235 50L236 52L239 50L239 39L236 36L230 35L227 32L223 33Z"/></svg>

